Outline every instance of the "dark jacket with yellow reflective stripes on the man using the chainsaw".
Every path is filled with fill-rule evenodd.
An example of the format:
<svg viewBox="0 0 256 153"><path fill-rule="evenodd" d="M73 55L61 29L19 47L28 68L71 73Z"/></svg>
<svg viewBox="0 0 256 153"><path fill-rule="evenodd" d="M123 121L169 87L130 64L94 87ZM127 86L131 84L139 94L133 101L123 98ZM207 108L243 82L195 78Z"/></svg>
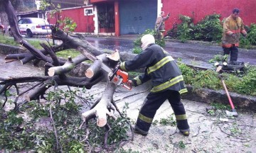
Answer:
<svg viewBox="0 0 256 153"><path fill-rule="evenodd" d="M124 71L144 67L146 67L144 74L132 79L133 86L139 86L151 79L153 85L151 92L168 89L178 91L180 94L187 92L181 70L173 57L159 45L151 44L146 50L134 57L133 60L120 64L120 68Z"/></svg>

